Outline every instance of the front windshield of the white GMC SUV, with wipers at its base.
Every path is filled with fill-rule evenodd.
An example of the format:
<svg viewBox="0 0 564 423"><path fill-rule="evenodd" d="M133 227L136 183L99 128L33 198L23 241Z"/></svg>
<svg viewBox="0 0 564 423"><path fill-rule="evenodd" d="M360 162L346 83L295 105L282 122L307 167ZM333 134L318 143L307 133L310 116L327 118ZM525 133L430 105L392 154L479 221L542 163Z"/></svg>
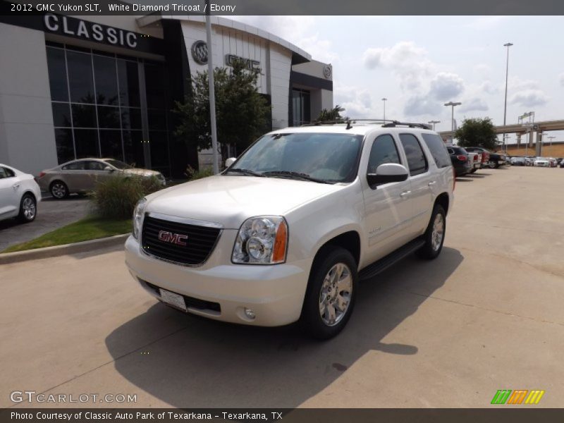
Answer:
<svg viewBox="0 0 564 423"><path fill-rule="evenodd" d="M264 135L235 161L231 169L264 174L261 176L286 177L289 175L283 173L302 173L329 183L351 182L356 177L361 145L362 135Z"/></svg>

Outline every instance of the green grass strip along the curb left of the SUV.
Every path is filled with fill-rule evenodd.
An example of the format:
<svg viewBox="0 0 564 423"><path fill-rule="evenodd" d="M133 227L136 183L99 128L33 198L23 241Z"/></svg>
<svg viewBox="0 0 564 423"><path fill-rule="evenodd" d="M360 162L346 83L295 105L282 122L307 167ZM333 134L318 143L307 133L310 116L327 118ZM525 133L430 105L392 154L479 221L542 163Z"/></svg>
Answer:
<svg viewBox="0 0 564 423"><path fill-rule="evenodd" d="M33 223L32 223L33 224ZM53 247L54 245L64 245L78 243L80 241L96 240L106 236L121 235L131 232L131 219L102 219L100 217L87 217L80 221L55 229L49 233L41 235L35 240L27 241L18 245L12 245L3 252L16 252L23 250L33 250L34 248Z"/></svg>

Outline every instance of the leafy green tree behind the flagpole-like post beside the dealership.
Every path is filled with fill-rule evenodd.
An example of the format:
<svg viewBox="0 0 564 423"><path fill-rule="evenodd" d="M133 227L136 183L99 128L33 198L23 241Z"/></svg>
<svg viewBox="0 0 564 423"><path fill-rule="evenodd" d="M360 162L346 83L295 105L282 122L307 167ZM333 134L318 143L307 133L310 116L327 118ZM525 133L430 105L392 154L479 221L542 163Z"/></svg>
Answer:
<svg viewBox="0 0 564 423"><path fill-rule="evenodd" d="M217 141L223 160L227 145L243 151L269 130L271 119L271 106L257 90L260 70L249 70L240 59L231 64L230 70L214 69ZM192 93L185 102L176 102L179 123L175 134L198 149L208 149L212 147L212 130L207 71L197 72L190 82Z"/></svg>

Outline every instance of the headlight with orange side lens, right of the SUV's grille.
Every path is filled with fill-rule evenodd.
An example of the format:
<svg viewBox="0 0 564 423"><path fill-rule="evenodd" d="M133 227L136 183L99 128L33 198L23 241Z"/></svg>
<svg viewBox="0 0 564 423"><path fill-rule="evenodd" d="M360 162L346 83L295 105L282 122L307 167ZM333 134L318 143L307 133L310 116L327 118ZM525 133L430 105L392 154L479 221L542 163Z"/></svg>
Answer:
<svg viewBox="0 0 564 423"><path fill-rule="evenodd" d="M282 216L247 219L239 229L231 260L236 264L286 262L288 225Z"/></svg>

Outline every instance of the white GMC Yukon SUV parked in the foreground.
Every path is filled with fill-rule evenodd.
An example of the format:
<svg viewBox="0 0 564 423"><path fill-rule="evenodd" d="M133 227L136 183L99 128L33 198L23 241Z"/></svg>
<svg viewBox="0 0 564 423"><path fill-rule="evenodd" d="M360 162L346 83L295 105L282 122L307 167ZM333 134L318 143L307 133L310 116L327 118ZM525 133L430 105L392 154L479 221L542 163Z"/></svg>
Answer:
<svg viewBox="0 0 564 423"><path fill-rule="evenodd" d="M412 252L439 255L454 183L441 137L424 124L276 130L223 173L142 199L126 263L184 312L258 326L301 319L330 338L360 279Z"/></svg>

